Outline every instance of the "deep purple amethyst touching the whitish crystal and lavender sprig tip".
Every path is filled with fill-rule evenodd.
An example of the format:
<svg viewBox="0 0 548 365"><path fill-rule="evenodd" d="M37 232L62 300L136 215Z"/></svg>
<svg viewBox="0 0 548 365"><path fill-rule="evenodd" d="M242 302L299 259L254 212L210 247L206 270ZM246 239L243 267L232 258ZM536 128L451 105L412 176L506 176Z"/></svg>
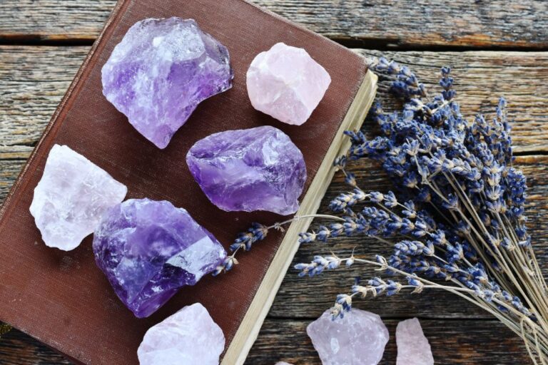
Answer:
<svg viewBox="0 0 548 365"><path fill-rule="evenodd" d="M171 202L131 199L104 215L93 237L98 267L136 317L148 317L225 258L223 246Z"/></svg>

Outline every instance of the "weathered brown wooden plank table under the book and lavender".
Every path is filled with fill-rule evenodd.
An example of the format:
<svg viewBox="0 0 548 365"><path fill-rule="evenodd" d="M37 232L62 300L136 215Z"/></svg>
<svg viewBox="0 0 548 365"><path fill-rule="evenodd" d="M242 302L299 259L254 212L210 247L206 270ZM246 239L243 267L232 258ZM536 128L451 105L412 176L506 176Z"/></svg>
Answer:
<svg viewBox="0 0 548 365"><path fill-rule="evenodd" d="M452 66L466 115L492 113L497 97L509 101L516 165L529 178L529 227L548 274L548 2L532 0L256 0L364 56L394 58L422 81L437 82ZM0 198L29 157L115 0L0 1ZM431 4L428 4L431 3ZM395 106L380 82L378 97ZM366 121L365 125L371 125ZM364 189L390 184L378 165L353 165ZM321 210L344 187L335 178ZM341 238L305 245L295 262L330 250L387 253L374 241ZM253 252L242 255L241 264ZM359 269L300 279L293 269L268 314L246 364L285 360L320 364L305 327L345 292ZM372 272L363 274L368 276ZM1 303L0 305L11 305ZM502 324L450 294L425 292L358 302L380 314L392 336L382 364L395 364L395 325L419 317L437 364L529 364L519 339ZM93 331L93 329L90 329ZM101 334L97 334L101 336ZM70 364L35 339L13 330L0 340L0 364Z"/></svg>

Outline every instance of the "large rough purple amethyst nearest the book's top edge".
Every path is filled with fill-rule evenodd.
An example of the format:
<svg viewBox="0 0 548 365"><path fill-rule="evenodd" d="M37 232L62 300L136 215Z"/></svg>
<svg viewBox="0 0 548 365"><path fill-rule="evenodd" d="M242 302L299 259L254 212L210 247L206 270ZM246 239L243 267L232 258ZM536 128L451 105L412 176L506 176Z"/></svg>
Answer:
<svg viewBox="0 0 548 365"><path fill-rule="evenodd" d="M158 148L232 79L227 48L193 19L177 17L138 21L102 70L104 96Z"/></svg>

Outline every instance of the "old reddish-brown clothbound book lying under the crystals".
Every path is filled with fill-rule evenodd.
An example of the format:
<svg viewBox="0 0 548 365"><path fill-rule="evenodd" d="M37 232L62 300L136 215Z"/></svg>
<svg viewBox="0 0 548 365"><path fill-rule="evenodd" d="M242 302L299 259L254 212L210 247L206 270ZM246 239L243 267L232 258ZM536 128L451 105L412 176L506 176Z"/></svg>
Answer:
<svg viewBox="0 0 548 365"><path fill-rule="evenodd" d="M128 28L145 18L198 21L228 47L233 88L203 101L164 150L143 138L102 94L101 67ZM303 47L332 78L310 119L287 125L253 109L245 72L273 44ZM375 96L376 77L356 53L243 0L120 0L83 62L41 140L0 210L0 320L82 364L138 364L146 330L182 307L201 302L226 337L223 365L243 364L298 249L298 233L269 232L218 277L183 287L151 317L123 306L91 249L92 237L70 252L46 247L29 212L34 187L55 143L68 145L127 185L127 198L169 200L184 207L228 249L252 222L286 219L270 212L224 212L209 202L185 162L188 149L211 133L273 125L303 152L308 179L298 215L313 214L333 178L333 160L349 147L344 130L360 128Z"/></svg>

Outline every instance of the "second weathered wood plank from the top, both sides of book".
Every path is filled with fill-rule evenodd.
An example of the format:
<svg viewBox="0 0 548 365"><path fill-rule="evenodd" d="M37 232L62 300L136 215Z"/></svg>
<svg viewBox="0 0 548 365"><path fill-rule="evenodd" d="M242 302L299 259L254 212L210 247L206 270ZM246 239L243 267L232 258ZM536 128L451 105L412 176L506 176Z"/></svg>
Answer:
<svg viewBox="0 0 548 365"><path fill-rule="evenodd" d="M25 158L39 139L88 48L0 46L0 157ZM357 50L364 56L378 51ZM453 67L463 113L492 113L499 96L509 101L514 146L519 153L548 151L548 52L386 52L410 65L427 84L441 66ZM394 106L380 82L378 97ZM238 82L238 81L236 81Z"/></svg>

